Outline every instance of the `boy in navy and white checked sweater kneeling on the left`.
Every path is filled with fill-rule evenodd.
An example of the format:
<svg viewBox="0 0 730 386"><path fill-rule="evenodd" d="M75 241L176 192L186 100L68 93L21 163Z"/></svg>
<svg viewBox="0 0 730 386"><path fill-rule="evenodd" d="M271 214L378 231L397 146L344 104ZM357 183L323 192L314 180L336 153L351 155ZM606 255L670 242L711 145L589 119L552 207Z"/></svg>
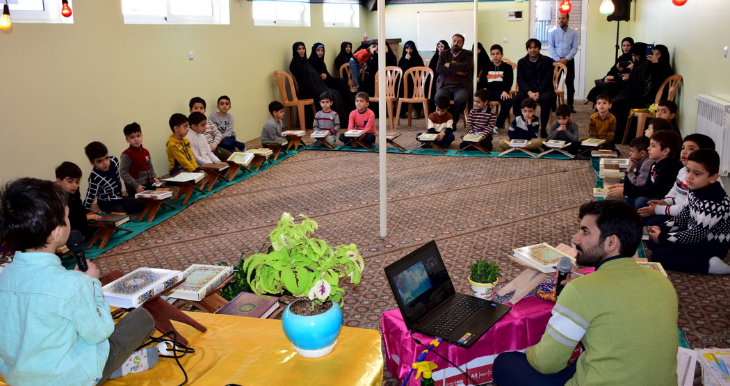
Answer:
<svg viewBox="0 0 730 386"><path fill-rule="evenodd" d="M89 174L89 188L86 190L84 207L91 208L93 199L99 209L107 213L118 212L134 214L145 209L145 201L122 194L119 180L119 160L109 155L109 150L101 142L91 142L84 148L89 163L93 166Z"/></svg>

